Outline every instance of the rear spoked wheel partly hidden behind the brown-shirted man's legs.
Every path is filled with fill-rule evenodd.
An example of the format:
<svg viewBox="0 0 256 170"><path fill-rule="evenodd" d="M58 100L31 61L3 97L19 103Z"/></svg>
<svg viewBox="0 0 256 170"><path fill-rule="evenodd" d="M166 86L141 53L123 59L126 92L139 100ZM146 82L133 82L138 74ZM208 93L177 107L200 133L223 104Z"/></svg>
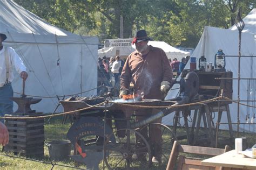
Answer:
<svg viewBox="0 0 256 170"><path fill-rule="evenodd" d="M172 130L164 124L151 123L150 126L151 127L152 126L158 126L158 128L161 129L162 141L159 144L159 146L161 147L161 162L164 163L164 164L165 163L167 164L167 162L169 160L169 157L170 157L170 153L171 153L171 150L172 150L174 140L177 140L177 137L172 132ZM140 129L140 131L142 131L144 128L147 128L147 133L149 133L149 128L150 128L149 125L144 126L143 128ZM151 138L154 138L154 137L151 137ZM152 141L149 140L148 142L149 142L151 148L153 148L154 146L152 144Z"/></svg>

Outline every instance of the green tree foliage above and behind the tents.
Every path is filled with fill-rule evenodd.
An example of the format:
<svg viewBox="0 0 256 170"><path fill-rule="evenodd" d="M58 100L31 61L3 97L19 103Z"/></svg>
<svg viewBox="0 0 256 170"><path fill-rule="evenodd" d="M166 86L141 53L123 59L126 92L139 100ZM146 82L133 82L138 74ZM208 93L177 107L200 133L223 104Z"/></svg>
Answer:
<svg viewBox="0 0 256 170"><path fill-rule="evenodd" d="M227 29L239 7L242 17L256 7L255 0L15 0L47 22L71 32L124 38L146 29L154 40L173 46L195 47L204 26Z"/></svg>

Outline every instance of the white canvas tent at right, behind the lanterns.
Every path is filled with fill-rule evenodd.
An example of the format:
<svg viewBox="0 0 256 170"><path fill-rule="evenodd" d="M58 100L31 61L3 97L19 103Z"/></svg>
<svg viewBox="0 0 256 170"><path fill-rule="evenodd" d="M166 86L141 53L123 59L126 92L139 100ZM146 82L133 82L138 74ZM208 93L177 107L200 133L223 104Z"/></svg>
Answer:
<svg viewBox="0 0 256 170"><path fill-rule="evenodd" d="M238 31L231 31L225 29L219 29L216 27L205 26L204 32L199 40L199 43L194 50L192 57L196 57L197 67L198 61L201 55L204 55L207 62L214 63L214 56L218 49L223 49L226 55L238 55ZM253 34L242 33L241 38L241 55L256 55L256 48ZM241 59L241 77L250 77L250 75L256 75L256 70L253 69L253 65L256 65L256 59L242 58ZM185 68L189 68L190 63ZM238 58L227 57L226 58L226 70L233 72L233 77L237 77L238 74ZM237 100L237 80L233 80L233 100ZM172 93L172 94L171 94ZM177 91L171 91L167 98L172 98L177 95ZM247 100L247 80L240 81L240 100ZM246 104L246 103L245 103ZM232 122L237 122L237 104L230 105ZM245 122L247 114L247 108L240 106L240 120ZM217 117L217 116L216 116ZM215 117L215 118L216 118ZM173 120L173 114L167 115L163 118L164 124L170 124ZM225 116L222 117L221 122L227 122ZM227 125L220 128L227 129ZM236 126L234 126L236 127ZM241 127L240 127L241 128ZM245 127L248 128L249 127ZM236 128L235 128L236 129ZM248 130L247 129L247 130ZM252 130L252 129L251 129Z"/></svg>

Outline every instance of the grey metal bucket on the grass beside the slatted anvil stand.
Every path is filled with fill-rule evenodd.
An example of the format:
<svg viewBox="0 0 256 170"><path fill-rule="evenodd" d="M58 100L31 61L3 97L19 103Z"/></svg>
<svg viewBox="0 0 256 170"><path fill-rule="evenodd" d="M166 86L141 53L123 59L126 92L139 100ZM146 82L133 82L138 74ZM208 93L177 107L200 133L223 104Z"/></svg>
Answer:
<svg viewBox="0 0 256 170"><path fill-rule="evenodd" d="M48 146L51 160L64 160L71 152L71 142L69 140L52 140L45 143Z"/></svg>

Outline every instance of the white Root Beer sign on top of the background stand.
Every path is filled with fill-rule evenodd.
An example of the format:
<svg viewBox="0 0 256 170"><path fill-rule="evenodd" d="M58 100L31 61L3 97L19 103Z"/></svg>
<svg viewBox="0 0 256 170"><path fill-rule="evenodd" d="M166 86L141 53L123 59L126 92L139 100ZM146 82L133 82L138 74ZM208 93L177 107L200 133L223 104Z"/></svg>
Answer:
<svg viewBox="0 0 256 170"><path fill-rule="evenodd" d="M104 47L127 47L127 46L132 46L131 42L132 42L131 38L106 39L104 41Z"/></svg>

